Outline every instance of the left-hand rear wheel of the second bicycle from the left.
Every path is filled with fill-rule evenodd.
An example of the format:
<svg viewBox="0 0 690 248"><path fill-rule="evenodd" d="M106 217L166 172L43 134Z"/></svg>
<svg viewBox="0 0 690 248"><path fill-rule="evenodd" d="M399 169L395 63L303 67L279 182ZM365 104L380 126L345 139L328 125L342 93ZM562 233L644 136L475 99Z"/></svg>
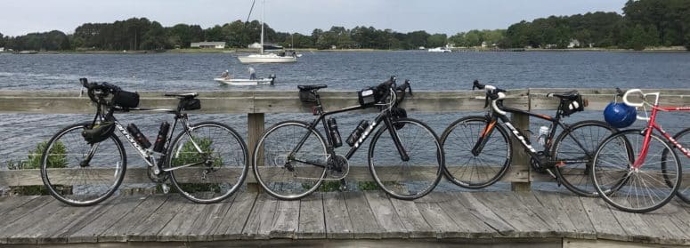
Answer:
<svg viewBox="0 0 690 248"><path fill-rule="evenodd" d="M285 166L288 161L288 154L307 133L310 134L307 140L304 140L304 144L297 151L296 156L304 159L304 161L318 161L326 164L328 156L326 141L321 132L304 122L284 121L273 124L256 142L255 152L252 156L254 175L256 181L269 195L280 200L297 200L312 194L321 186L321 182L326 177L325 167L319 168L295 161L290 163L293 166L293 170L290 172ZM280 140L275 140L278 138ZM281 140L285 140L285 142L280 142ZM304 150L308 148L314 148L314 150ZM262 149L264 150L263 153L260 152ZM262 154L264 157L261 157ZM283 156L285 157L283 158Z"/></svg>

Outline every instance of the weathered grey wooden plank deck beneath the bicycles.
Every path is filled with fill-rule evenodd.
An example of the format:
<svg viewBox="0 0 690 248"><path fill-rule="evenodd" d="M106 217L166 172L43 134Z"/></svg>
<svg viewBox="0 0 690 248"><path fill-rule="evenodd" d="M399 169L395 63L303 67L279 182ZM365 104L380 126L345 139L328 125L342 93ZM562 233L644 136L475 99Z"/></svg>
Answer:
<svg viewBox="0 0 690 248"><path fill-rule="evenodd" d="M51 196L7 196L0 197L0 216L0 244L690 244L690 208L677 201L633 214L597 198L543 191L434 192L414 202L377 191L316 193L301 201L242 192L222 204L193 204L170 194L117 196L92 207L69 207Z"/></svg>

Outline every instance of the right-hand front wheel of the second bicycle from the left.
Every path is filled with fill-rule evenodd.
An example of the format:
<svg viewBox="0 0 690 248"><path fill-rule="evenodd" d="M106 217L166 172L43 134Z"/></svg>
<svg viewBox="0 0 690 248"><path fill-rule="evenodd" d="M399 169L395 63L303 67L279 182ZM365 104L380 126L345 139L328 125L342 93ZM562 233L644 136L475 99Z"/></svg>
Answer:
<svg viewBox="0 0 690 248"><path fill-rule="evenodd" d="M418 120L401 118L393 121L393 126L389 130L384 125L371 140L369 171L378 186L395 198L426 196L442 177L445 157L441 142L431 128ZM399 138L408 160L402 160L394 136Z"/></svg>

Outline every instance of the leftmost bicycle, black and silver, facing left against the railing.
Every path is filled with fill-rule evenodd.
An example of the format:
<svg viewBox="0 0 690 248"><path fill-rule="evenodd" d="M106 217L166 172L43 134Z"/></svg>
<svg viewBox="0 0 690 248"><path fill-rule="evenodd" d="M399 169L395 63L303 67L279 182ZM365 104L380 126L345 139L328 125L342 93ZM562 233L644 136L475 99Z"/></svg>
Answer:
<svg viewBox="0 0 690 248"><path fill-rule="evenodd" d="M151 181L169 179L192 202L220 202L239 189L248 171L247 145L225 124L189 123L186 111L201 108L196 92L166 93L179 100L175 109L138 108L136 92L108 83L89 83L86 78L80 82L95 103L96 113L93 121L69 125L45 145L41 177L53 197L65 204L87 206L116 192L125 179L127 160L115 130L142 156ZM128 111L165 112L175 115L175 122L172 128L162 123L151 146L135 124L125 128L114 116ZM183 130L173 137L178 122ZM167 193L166 184L162 186Z"/></svg>

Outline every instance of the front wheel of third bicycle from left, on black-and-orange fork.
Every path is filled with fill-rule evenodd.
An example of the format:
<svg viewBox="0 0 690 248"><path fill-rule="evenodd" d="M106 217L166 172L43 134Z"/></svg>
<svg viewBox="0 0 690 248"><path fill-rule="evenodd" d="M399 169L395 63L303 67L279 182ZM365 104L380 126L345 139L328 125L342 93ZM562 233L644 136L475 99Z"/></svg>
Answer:
<svg viewBox="0 0 690 248"><path fill-rule="evenodd" d="M496 124L483 152L478 156L472 154L486 125L486 116L467 116L443 131L441 143L446 155L443 173L452 183L463 188L486 188L506 174L512 159L513 141L503 126ZM502 154L505 158L498 157ZM477 178L473 179L475 175Z"/></svg>

